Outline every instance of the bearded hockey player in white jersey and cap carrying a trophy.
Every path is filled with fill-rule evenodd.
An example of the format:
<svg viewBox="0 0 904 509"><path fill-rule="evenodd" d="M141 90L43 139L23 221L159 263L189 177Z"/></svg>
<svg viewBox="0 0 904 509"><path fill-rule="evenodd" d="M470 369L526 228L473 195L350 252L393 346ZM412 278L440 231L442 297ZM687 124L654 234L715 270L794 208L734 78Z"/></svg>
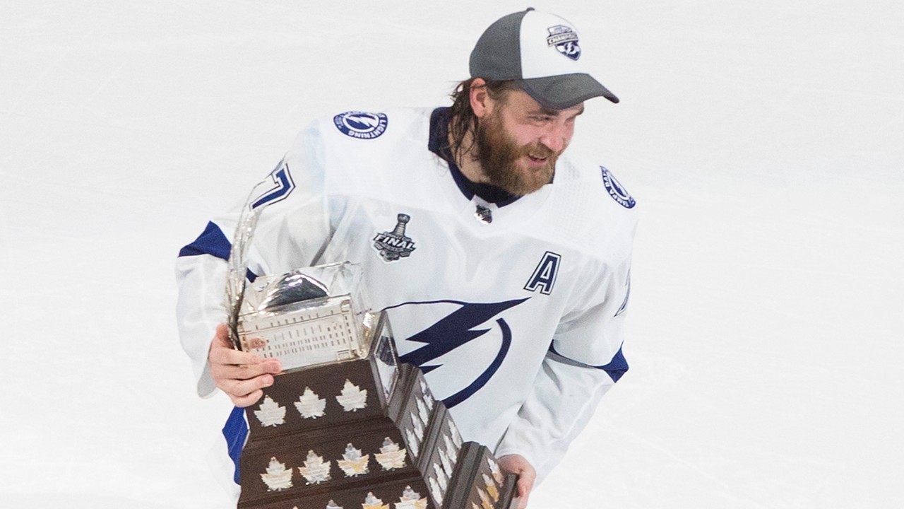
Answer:
<svg viewBox="0 0 904 509"><path fill-rule="evenodd" d="M506 15L476 43L450 108L316 120L250 202L268 204L250 272L361 264L401 360L426 373L465 439L521 475L522 506L627 370L636 202L607 168L563 155L584 101L618 101L583 56L559 16ZM198 392L219 388L237 407L224 428L235 465L240 408L280 370L232 350L222 325L238 215L214 219L177 262Z"/></svg>

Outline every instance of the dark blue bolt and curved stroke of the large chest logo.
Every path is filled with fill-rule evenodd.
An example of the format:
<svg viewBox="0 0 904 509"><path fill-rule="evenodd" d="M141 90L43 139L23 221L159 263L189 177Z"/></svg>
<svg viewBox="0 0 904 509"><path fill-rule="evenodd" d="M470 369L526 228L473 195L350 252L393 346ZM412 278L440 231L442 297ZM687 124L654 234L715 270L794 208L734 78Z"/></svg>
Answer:
<svg viewBox="0 0 904 509"><path fill-rule="evenodd" d="M400 356L399 360L419 366L420 370L425 374L432 370L436 370L441 367L442 364L430 364L431 361L437 360L448 352L454 351L458 347L480 338L486 332L490 331L491 328L477 329L476 327L493 320L494 317L500 313L527 301L529 298L530 297L505 301L502 303L462 303L457 301L431 302L456 303L461 307L456 311L449 313L446 317L440 319L433 325L430 325L427 329L419 331L407 338L406 341L423 343L424 346ZM428 303L405 303L392 307L400 307L406 304ZM392 307L387 309L392 309ZM483 388L486 385L486 382L493 378L495 372L502 366L505 355L512 345L512 330L503 318L496 318L495 323L499 325L499 329L502 331L502 344L499 347L499 351L496 352L490 365L476 379L469 383L464 389L443 399L447 408L455 407L458 403L468 399L476 393L476 391Z"/></svg>

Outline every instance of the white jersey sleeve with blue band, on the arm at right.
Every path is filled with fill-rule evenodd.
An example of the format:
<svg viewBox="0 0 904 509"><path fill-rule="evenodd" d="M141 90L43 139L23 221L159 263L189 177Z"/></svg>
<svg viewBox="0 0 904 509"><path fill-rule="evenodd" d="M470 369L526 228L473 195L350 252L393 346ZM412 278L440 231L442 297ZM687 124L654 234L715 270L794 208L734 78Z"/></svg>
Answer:
<svg viewBox="0 0 904 509"><path fill-rule="evenodd" d="M600 277L588 278L591 283L560 321L530 395L496 447L497 456L524 456L537 470L538 484L627 370L621 346L629 267L628 255Z"/></svg>

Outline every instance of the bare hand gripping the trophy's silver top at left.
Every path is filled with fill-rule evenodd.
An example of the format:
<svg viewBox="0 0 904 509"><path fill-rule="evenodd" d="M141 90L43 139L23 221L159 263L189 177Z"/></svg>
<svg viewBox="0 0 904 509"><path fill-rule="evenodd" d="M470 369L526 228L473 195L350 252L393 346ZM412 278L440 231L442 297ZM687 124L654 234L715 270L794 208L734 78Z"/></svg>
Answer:
<svg viewBox="0 0 904 509"><path fill-rule="evenodd" d="M261 389L273 385L273 375L282 370L278 359L264 360L256 353L232 348L225 323L217 327L207 360L213 381L236 407L256 403L264 395Z"/></svg>

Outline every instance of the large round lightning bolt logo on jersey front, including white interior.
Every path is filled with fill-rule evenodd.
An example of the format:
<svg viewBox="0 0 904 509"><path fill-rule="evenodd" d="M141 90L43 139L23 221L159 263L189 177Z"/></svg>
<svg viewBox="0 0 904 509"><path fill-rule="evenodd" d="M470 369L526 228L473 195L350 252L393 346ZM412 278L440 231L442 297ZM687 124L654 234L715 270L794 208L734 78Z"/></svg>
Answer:
<svg viewBox="0 0 904 509"><path fill-rule="evenodd" d="M406 322L407 314L423 318L438 316L432 325L396 342L399 360L420 367L424 374L433 370L455 370L456 376L441 377L436 389L447 408L468 399L493 378L512 346L512 329L500 315L528 299L502 303L462 303L431 301L403 303L387 308L391 318ZM420 345L420 346L419 346Z"/></svg>

